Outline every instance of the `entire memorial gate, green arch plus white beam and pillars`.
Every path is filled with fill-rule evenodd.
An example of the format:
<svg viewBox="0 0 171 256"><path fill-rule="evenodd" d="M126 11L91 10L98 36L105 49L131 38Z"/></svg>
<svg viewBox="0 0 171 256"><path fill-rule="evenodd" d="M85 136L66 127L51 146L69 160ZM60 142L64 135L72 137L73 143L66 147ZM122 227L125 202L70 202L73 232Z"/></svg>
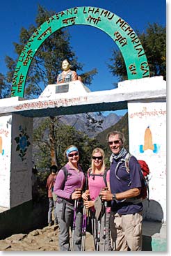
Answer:
<svg viewBox="0 0 171 256"><path fill-rule="evenodd" d="M24 96L26 75L40 45L56 30L75 24L90 25L111 36L122 52L129 80L121 82L117 89L110 91L81 94L79 90L75 90L73 95L67 96L63 93L65 95L59 98L55 95L33 100L19 98ZM149 78L145 52L136 33L127 22L108 10L95 7L71 8L50 17L35 30L19 57L13 77L12 96L17 97L0 100L0 208L3 206L5 209L11 209L31 200L33 117L128 107L131 153L147 160L150 169L154 170L155 177L156 173L160 174L153 183L158 184L162 195L160 193L158 197L152 190L152 196L161 204L165 220L166 197L162 188L165 186L166 152L165 135L161 137L161 134L164 133L166 126L166 86L162 77ZM138 151L138 144L143 144L141 140L149 124L163 151L154 153L149 150L142 156ZM21 209L17 211L23 215ZM158 218L155 212L156 217ZM20 219L18 221L21 223ZM3 230L6 230L6 225L1 232Z"/></svg>

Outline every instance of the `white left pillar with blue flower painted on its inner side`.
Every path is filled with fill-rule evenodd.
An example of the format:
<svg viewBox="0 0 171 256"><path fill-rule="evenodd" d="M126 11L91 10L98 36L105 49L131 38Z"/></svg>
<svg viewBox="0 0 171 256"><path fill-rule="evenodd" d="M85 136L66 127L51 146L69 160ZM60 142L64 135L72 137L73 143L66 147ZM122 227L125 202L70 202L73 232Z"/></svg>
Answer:
<svg viewBox="0 0 171 256"><path fill-rule="evenodd" d="M0 207L31 200L33 119L0 116Z"/></svg>

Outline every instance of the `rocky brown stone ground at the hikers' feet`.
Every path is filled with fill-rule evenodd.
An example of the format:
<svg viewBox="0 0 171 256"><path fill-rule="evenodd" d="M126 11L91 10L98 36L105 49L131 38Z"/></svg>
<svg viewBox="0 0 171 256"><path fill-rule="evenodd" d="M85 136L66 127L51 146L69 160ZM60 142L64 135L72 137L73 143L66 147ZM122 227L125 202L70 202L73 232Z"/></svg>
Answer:
<svg viewBox="0 0 171 256"><path fill-rule="evenodd" d="M86 233L86 251L94 251L92 235ZM58 225L13 234L0 240L0 251L58 251Z"/></svg>

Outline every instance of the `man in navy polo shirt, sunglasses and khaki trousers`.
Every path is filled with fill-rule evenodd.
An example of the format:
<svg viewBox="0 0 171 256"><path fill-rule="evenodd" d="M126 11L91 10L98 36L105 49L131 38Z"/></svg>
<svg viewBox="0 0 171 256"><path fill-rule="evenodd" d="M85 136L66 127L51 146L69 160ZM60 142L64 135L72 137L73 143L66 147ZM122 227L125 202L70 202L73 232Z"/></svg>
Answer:
<svg viewBox="0 0 171 256"><path fill-rule="evenodd" d="M140 251L142 248L142 174L138 160L131 156L129 171L124 159L124 134L113 131L107 135L111 148L110 187L101 191L104 200L111 200L111 236L114 250Z"/></svg>

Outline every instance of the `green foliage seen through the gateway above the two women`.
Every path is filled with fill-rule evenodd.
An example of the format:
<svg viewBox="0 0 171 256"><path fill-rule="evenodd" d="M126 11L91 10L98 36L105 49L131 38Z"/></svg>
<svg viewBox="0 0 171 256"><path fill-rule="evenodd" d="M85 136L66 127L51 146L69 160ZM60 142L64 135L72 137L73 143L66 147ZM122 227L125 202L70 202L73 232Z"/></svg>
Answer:
<svg viewBox="0 0 171 256"><path fill-rule="evenodd" d="M79 149L79 162L86 172L90 166L92 149L99 145L99 142L95 139L90 139L88 135L77 131L72 126L66 126L60 123L59 119L60 116L54 122L54 152L58 159L58 168L67 162L63 156L65 149L67 146L74 144ZM49 139L48 123L49 119L44 119L40 126L35 128L33 132L34 162L40 170L44 170L44 167L49 168L51 165L51 142Z"/></svg>

